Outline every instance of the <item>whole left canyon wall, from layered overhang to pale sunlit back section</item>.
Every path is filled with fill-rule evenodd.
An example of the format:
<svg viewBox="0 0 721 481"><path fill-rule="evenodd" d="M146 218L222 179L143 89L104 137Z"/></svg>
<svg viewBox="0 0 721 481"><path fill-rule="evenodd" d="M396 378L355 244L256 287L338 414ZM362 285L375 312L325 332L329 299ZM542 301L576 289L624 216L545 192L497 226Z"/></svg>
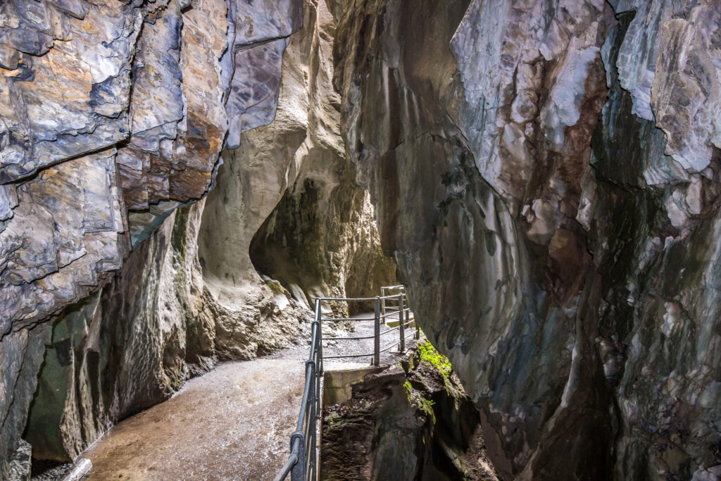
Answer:
<svg viewBox="0 0 721 481"><path fill-rule="evenodd" d="M304 306L345 292L353 256L371 288L395 282L347 175L324 4L0 8L1 478L27 469L25 441L74 459L189 376L303 337ZM290 238L334 276L261 277L253 236L306 182L322 227Z"/></svg>

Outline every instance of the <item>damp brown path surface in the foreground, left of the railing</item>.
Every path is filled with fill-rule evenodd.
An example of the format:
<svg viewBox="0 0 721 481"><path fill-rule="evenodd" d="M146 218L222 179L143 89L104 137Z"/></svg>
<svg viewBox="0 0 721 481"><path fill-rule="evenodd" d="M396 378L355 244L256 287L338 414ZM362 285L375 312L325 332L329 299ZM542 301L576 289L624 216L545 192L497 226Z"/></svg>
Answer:
<svg viewBox="0 0 721 481"><path fill-rule="evenodd" d="M293 356L295 357L295 356ZM81 456L84 480L265 480L288 458L302 358L229 362L115 425Z"/></svg>

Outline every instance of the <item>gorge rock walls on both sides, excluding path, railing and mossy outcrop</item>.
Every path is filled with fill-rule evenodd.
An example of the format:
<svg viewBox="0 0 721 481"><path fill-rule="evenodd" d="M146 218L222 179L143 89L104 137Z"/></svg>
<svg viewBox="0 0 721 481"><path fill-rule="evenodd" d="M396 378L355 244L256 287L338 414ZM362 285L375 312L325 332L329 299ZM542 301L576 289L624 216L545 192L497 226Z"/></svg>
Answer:
<svg viewBox="0 0 721 481"><path fill-rule="evenodd" d="M717 1L7 0L0 73L0 479L397 282L501 480L721 478Z"/></svg>

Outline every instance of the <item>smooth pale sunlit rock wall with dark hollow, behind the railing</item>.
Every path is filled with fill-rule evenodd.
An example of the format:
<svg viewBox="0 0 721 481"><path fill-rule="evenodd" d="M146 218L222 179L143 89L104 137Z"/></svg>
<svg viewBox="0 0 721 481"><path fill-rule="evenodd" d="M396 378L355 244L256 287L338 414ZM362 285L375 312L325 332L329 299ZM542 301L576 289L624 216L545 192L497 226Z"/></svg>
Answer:
<svg viewBox="0 0 721 481"><path fill-rule="evenodd" d="M395 282L368 195L348 175L332 87L335 23L325 2L307 2L303 23L283 58L275 120L227 152L205 204L200 262L221 305L255 295L259 273L305 306L349 287L377 295ZM276 296L281 304L284 295Z"/></svg>

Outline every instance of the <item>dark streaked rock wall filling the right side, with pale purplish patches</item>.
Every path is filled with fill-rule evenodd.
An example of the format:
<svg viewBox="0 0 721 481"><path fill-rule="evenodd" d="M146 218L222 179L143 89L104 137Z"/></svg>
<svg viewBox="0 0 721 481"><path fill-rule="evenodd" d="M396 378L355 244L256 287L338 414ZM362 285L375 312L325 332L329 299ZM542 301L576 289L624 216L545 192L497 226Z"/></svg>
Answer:
<svg viewBox="0 0 721 481"><path fill-rule="evenodd" d="M498 475L720 475L717 2L332 11L348 156Z"/></svg>

